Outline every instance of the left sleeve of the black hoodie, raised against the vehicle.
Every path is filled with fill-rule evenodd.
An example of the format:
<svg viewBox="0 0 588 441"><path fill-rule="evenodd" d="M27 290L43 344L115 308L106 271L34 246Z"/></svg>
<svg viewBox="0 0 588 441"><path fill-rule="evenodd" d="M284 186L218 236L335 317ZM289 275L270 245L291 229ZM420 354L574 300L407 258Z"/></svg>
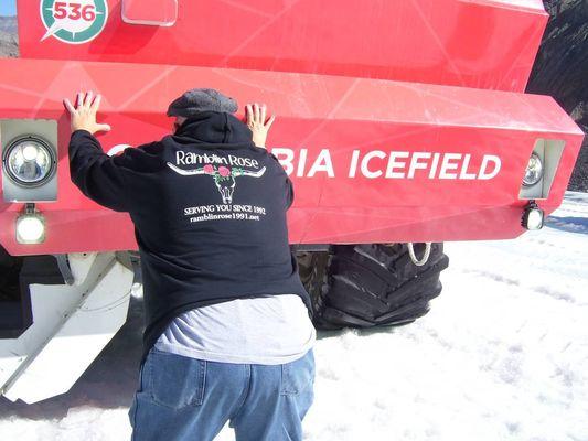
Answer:
<svg viewBox="0 0 588 441"><path fill-rule="evenodd" d="M128 212L125 152L110 157L87 130L76 130L70 140L70 175L90 200L114 209Z"/></svg>

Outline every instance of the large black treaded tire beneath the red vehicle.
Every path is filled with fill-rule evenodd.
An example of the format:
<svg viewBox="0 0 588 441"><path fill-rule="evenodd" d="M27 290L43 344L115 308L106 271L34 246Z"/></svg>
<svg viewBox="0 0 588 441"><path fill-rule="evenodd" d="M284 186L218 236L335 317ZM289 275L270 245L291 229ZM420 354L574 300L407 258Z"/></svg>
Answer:
<svg viewBox="0 0 588 441"><path fill-rule="evenodd" d="M415 244L417 257L424 249L425 244ZM334 245L299 256L319 330L414 322L441 292L439 275L448 265L442 244L431 245L421 267L411 262L406 244Z"/></svg>

